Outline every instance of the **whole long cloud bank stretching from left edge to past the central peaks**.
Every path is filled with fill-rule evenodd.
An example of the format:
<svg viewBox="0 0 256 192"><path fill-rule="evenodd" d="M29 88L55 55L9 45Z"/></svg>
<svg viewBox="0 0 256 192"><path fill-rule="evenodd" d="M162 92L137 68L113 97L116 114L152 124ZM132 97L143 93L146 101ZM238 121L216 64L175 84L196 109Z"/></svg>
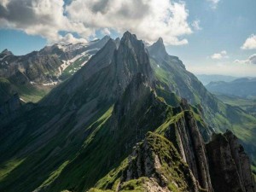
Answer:
<svg viewBox="0 0 256 192"><path fill-rule="evenodd" d="M162 37L166 44L188 44L183 38L192 33L188 17L185 3L170 0L0 0L1 26L41 35L49 42L65 38L61 31L88 39L97 30L108 35L128 30L149 43ZM200 28L199 21L193 27Z"/></svg>

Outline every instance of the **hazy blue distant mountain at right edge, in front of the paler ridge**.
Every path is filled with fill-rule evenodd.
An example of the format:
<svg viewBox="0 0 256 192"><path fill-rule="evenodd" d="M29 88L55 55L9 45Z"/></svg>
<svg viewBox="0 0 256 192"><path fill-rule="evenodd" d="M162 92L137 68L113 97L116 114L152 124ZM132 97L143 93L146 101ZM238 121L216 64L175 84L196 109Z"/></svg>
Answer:
<svg viewBox="0 0 256 192"><path fill-rule="evenodd" d="M228 96L241 96L250 98L256 96L256 78L254 79L236 79L231 82L212 82L207 84L207 90L217 92Z"/></svg>

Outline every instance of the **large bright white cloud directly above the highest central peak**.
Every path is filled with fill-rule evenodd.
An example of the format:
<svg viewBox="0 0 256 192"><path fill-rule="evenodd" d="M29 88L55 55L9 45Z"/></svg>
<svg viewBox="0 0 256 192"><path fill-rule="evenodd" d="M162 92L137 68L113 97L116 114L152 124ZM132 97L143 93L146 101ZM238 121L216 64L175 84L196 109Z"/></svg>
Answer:
<svg viewBox="0 0 256 192"><path fill-rule="evenodd" d="M166 44L187 44L179 37L192 33L185 4L169 0L77 0L67 6L67 13L92 29L128 30L149 43L162 37Z"/></svg>

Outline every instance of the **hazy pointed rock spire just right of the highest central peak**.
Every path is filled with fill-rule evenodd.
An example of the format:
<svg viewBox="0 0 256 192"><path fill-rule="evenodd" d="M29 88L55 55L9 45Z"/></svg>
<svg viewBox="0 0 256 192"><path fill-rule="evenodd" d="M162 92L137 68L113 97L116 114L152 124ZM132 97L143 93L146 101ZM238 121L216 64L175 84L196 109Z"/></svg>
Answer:
<svg viewBox="0 0 256 192"><path fill-rule="evenodd" d="M148 47L149 55L156 59L164 59L166 57L166 47L164 45L163 38L159 38L157 42Z"/></svg>

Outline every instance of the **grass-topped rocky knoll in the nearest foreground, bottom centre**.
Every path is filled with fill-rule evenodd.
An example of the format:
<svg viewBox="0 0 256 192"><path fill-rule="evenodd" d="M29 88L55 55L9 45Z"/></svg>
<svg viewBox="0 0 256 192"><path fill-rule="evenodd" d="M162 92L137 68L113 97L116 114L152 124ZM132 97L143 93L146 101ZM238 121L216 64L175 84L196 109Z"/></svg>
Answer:
<svg viewBox="0 0 256 192"><path fill-rule="evenodd" d="M200 191L189 166L183 163L172 143L152 132L134 148L119 187L140 177L150 178L143 185L155 187L147 191Z"/></svg>

